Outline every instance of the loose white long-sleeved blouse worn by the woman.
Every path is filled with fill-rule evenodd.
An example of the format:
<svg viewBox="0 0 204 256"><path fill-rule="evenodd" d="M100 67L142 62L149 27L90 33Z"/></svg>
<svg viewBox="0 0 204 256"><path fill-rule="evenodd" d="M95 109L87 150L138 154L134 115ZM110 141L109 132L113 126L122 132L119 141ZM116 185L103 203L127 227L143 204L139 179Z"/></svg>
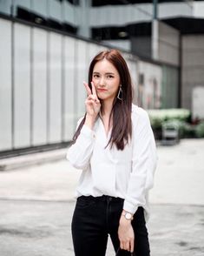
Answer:
<svg viewBox="0 0 204 256"><path fill-rule="evenodd" d="M82 126L76 143L69 147L67 159L82 169L76 197L119 197L124 199L123 209L127 212L134 214L142 206L147 220L148 190L153 187L157 162L155 138L146 111L132 104L131 118L132 139L123 151L115 145L112 149L106 147L111 131L107 137L101 118L97 118L93 130Z"/></svg>

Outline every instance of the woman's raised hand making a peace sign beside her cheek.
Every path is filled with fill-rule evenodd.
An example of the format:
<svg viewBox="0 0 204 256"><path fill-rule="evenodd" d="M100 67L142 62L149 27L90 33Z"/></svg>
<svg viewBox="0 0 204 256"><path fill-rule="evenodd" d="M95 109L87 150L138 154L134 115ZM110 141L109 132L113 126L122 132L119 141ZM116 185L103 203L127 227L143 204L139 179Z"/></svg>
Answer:
<svg viewBox="0 0 204 256"><path fill-rule="evenodd" d="M95 84L93 82L91 82L91 89L92 92L89 88L89 85L85 82L83 82L88 97L86 98L85 101L85 105L86 105L86 121L85 121L85 125L88 125L89 128L93 128L93 125L95 123L95 118L97 117L100 109L101 109L101 103L100 100L97 97L96 91L95 91Z"/></svg>

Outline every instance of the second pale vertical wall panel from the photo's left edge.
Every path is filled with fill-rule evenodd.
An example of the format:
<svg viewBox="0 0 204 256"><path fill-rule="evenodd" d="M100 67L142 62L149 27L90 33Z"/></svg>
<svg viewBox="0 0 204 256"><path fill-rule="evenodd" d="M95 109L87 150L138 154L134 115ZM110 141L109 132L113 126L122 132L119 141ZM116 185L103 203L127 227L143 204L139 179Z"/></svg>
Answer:
<svg viewBox="0 0 204 256"><path fill-rule="evenodd" d="M14 24L14 147L30 146L30 27Z"/></svg>

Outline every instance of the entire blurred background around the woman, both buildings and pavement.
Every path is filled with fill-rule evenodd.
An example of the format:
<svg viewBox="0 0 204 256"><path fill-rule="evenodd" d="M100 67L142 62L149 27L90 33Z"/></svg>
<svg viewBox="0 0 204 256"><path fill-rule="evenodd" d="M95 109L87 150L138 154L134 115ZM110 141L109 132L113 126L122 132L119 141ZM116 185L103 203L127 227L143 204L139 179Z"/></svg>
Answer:
<svg viewBox="0 0 204 256"><path fill-rule="evenodd" d="M89 62L110 48L158 145L151 255L204 255L204 1L0 0L1 256L74 255L81 171L65 156Z"/></svg>

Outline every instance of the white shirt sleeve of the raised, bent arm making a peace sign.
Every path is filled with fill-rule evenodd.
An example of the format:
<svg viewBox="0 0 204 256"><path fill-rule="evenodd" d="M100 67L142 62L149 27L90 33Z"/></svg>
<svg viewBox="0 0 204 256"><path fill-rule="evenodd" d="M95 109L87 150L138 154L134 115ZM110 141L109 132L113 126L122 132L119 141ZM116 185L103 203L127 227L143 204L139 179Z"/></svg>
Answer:
<svg viewBox="0 0 204 256"><path fill-rule="evenodd" d="M66 158L69 163L76 169L85 169L89 165L94 143L95 131L92 131L87 125L83 125L78 138L76 138L76 143L71 145L67 152Z"/></svg>

